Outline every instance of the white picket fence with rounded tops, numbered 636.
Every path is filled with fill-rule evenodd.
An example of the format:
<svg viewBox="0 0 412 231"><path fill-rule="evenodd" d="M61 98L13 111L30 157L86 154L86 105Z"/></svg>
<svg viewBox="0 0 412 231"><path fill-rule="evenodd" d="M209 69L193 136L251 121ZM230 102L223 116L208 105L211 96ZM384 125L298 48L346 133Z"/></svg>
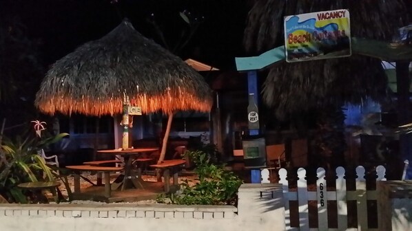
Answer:
<svg viewBox="0 0 412 231"><path fill-rule="evenodd" d="M376 167L377 181L385 181L384 166ZM285 198L285 225L286 230L378 230L368 228L367 201L378 198L376 190L367 190L366 180L364 178L365 169L363 166L356 168L356 190L347 190L347 182L344 179L345 170L342 167L336 168L336 191L327 191L327 181L325 179L325 169L318 168L316 192L307 190L307 180L305 168L298 169L297 191L289 191L289 184L286 180L287 170L281 168L278 172L279 183L282 184L283 195ZM262 184L268 184L269 170L261 171ZM297 201L299 214L299 227L291 227L289 201ZM318 228L309 228L309 201L318 201ZM329 228L328 224L328 203L327 201L336 201L338 219L338 228ZM356 201L358 228L348 228L347 201ZM379 203L377 203L378 210ZM312 225L316 226L316 225Z"/></svg>

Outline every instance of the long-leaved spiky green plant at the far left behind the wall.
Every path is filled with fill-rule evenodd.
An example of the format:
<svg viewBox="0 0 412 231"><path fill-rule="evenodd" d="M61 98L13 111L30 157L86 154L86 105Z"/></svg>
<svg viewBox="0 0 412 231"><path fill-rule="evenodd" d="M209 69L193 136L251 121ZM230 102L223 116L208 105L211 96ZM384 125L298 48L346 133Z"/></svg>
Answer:
<svg viewBox="0 0 412 231"><path fill-rule="evenodd" d="M53 173L38 152L66 135L68 133L43 135L40 139L30 129L14 139L3 137L0 149L3 162L0 165L0 194L9 201L27 203L30 195L25 195L17 188L18 184L28 181L54 181L56 173Z"/></svg>

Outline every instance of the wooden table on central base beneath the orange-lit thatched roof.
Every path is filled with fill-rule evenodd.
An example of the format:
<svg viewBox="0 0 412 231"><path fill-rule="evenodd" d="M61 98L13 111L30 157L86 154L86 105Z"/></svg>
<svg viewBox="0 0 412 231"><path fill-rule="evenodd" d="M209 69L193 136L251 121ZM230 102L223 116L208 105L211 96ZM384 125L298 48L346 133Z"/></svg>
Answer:
<svg viewBox="0 0 412 231"><path fill-rule="evenodd" d="M127 150L123 149L112 149L112 150L100 150L97 153L108 153L112 155L121 155L124 159L125 164L125 171L124 175L119 175L119 177L114 181L114 188L119 188L121 186L121 190L125 190L129 188L129 183L132 183L134 188L144 188L143 184L144 181L141 177L137 177L136 175L132 175L133 170L133 160L138 159L144 153L152 153L154 151L158 151L158 148L131 148ZM121 179L123 177L123 179ZM120 182L120 183L118 183Z"/></svg>

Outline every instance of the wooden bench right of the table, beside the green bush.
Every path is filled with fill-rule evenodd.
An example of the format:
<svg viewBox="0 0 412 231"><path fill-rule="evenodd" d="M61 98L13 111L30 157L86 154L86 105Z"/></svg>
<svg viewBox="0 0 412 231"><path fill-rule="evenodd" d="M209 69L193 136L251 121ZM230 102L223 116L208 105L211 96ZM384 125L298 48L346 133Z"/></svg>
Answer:
<svg viewBox="0 0 412 231"><path fill-rule="evenodd" d="M170 192L170 175L173 175L173 186L178 186L178 172L180 167L185 164L184 159L163 160L159 164L150 165L152 168L163 170L163 179L165 180L165 192Z"/></svg>

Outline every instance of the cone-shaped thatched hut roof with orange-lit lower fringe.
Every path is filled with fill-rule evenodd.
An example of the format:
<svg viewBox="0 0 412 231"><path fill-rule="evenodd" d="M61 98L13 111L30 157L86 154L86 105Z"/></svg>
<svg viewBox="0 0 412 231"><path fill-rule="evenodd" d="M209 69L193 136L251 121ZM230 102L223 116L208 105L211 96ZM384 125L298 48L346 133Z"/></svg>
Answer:
<svg viewBox="0 0 412 231"><path fill-rule="evenodd" d="M143 113L209 111L212 91L195 69L123 21L56 61L37 92L45 113L114 115L124 94Z"/></svg>

